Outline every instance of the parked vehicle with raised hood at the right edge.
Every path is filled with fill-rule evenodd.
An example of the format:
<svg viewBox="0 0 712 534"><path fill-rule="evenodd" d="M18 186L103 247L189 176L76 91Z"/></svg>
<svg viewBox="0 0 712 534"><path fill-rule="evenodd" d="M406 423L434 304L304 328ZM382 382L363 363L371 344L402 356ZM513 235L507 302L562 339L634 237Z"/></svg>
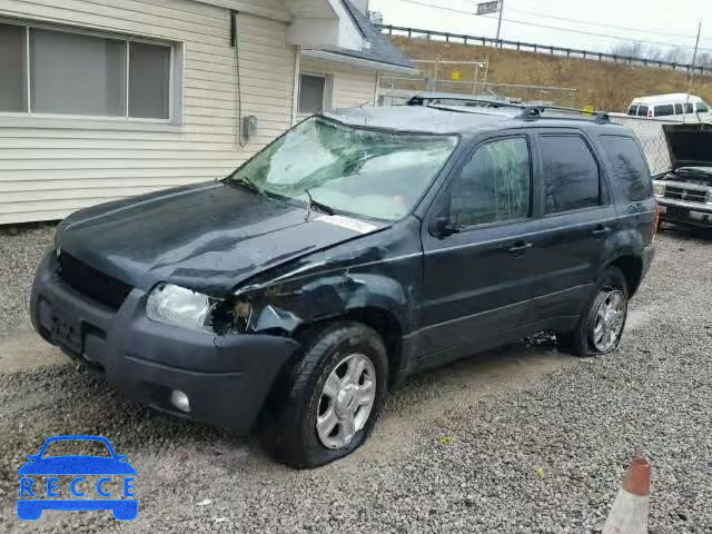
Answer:
<svg viewBox="0 0 712 534"><path fill-rule="evenodd" d="M660 220L712 227L712 127L665 125L672 170L653 181Z"/></svg>

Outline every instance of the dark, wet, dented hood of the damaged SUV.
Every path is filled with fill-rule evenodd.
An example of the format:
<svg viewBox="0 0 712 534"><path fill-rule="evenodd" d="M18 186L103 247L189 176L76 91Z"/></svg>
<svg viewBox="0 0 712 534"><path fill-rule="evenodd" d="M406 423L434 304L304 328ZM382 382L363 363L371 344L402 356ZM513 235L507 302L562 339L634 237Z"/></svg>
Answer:
<svg viewBox="0 0 712 534"><path fill-rule="evenodd" d="M131 286L169 281L224 296L265 269L384 228L199 184L78 211L61 225L62 253Z"/></svg>

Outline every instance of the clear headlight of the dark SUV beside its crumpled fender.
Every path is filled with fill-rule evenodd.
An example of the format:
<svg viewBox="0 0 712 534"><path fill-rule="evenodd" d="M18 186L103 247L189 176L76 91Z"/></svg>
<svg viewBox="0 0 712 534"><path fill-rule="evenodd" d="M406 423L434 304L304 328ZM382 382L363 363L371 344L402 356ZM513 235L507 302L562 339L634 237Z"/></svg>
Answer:
<svg viewBox="0 0 712 534"><path fill-rule="evenodd" d="M149 319L192 330L211 330L211 312L217 300L172 284L156 286L146 303Z"/></svg>

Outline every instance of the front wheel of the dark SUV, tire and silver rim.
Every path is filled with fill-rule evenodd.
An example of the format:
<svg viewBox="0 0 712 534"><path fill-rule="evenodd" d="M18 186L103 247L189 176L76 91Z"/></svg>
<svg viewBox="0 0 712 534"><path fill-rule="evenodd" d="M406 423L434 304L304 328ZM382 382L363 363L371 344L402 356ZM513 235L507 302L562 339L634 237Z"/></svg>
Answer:
<svg viewBox="0 0 712 534"><path fill-rule="evenodd" d="M300 340L299 356L275 385L264 414L260 441L277 461L296 468L313 468L347 456L366 441L386 396L388 358L380 336L360 323L338 322L313 328ZM345 370L357 369L357 364L363 364L364 370L356 385L349 382L350 374L339 376ZM335 379L342 382L332 382ZM338 395L327 394L327 390L334 392L334 387L325 388L327 380L329 386L340 384ZM370 386L375 392L372 393ZM365 396L373 395L369 409L367 405L357 406L364 402L357 396L362 390ZM339 407L356 411L356 415L343 419L353 419L355 424L338 419L334 437L326 435L324 426L320 426L320 436L317 416L333 421ZM327 425L329 422L325 421Z"/></svg>

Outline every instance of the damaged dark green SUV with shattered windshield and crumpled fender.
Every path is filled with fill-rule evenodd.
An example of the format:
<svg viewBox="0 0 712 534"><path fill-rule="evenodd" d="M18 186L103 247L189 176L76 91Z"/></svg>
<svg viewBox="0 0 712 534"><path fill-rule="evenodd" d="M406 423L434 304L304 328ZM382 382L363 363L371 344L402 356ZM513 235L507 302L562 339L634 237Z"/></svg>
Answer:
<svg viewBox="0 0 712 534"><path fill-rule="evenodd" d="M544 329L614 350L654 228L640 146L603 116L357 108L221 180L69 216L31 317L127 396L314 467L415 372Z"/></svg>

